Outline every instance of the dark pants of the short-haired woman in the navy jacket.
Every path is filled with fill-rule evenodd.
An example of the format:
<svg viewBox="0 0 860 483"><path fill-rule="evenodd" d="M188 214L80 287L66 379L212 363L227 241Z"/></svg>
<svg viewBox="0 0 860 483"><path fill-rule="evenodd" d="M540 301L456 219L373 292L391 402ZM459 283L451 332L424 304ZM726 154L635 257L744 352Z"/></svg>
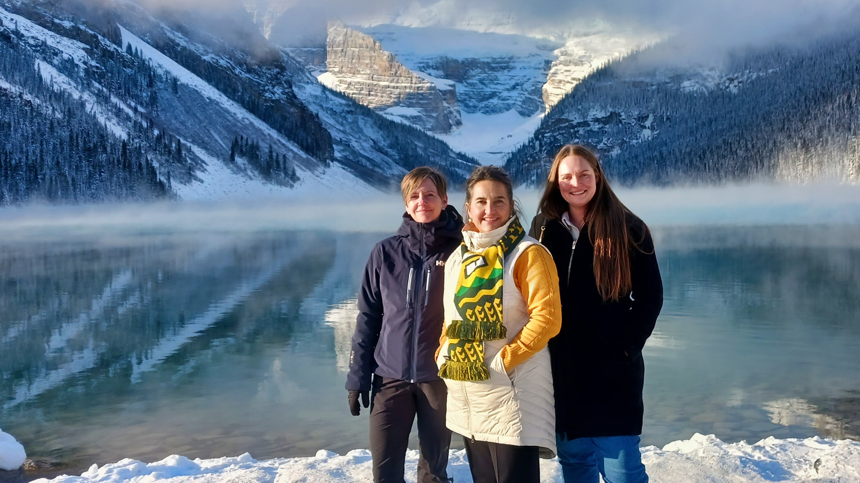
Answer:
<svg viewBox="0 0 860 483"><path fill-rule="evenodd" d="M418 416L418 483L448 481L451 431L445 427L444 381L408 382L373 376L371 454L374 483L403 483L412 422Z"/></svg>

